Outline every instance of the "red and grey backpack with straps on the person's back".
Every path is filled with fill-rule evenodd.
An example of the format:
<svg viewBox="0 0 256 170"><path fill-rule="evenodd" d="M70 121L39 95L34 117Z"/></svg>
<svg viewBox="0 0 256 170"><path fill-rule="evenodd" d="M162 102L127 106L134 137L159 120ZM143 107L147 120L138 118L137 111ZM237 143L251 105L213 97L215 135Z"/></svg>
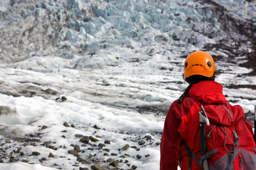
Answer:
<svg viewBox="0 0 256 170"><path fill-rule="evenodd" d="M256 150L252 124L244 118L241 106L205 104L210 125L205 125L205 155L198 160L188 145L189 159L193 158L204 169L207 160L210 170L256 169Z"/></svg>

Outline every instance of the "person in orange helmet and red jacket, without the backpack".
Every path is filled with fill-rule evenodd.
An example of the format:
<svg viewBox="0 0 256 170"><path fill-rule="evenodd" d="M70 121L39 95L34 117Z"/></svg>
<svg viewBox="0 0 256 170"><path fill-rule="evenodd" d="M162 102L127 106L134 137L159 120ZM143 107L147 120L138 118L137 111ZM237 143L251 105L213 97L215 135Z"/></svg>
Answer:
<svg viewBox="0 0 256 170"><path fill-rule="evenodd" d="M195 159L189 159L188 147L186 147L189 146L200 160L200 106L204 104L211 104L212 107L220 105L222 108L231 106L223 95L223 87L215 81L215 72L214 60L207 52L196 51L186 58L184 62L184 78L189 85L184 94L172 103L166 115L160 145L160 170L177 170L178 165L182 170L201 169ZM239 109L237 109L239 111L236 112L243 112L241 111L243 109L240 108L239 106ZM240 116L239 114L241 117L243 116L242 113L237 113L236 115ZM252 134L251 131L248 133Z"/></svg>

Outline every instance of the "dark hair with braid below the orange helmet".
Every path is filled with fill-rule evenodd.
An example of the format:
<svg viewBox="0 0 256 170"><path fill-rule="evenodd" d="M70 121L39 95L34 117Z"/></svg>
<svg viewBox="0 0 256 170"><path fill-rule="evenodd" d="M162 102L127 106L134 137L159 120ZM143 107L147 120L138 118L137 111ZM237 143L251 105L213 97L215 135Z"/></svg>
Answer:
<svg viewBox="0 0 256 170"><path fill-rule="evenodd" d="M202 76L202 75L193 75L193 76L189 76L188 78L184 78L188 83L189 86L187 87L187 89L184 91L184 93L180 96L178 103L182 103L183 99L188 95L189 90L191 89L191 87L193 86L193 84L195 83L199 83L200 81L214 81L215 80L215 73L213 74L213 76L211 77L206 77L206 76Z"/></svg>

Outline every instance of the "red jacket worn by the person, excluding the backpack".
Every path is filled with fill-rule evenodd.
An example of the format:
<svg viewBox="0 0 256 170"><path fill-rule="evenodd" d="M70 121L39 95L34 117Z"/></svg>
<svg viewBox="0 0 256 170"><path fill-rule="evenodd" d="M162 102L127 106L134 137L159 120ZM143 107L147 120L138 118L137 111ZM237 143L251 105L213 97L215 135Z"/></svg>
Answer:
<svg viewBox="0 0 256 170"><path fill-rule="evenodd" d="M200 158L199 114L200 101L205 104L228 104L222 94L222 86L215 81L201 81L189 90L181 104L174 101L166 115L161 139L161 170L188 169L188 151L182 141L186 141ZM186 124L186 126L182 125ZM191 127L182 129L182 127ZM192 128L193 127L193 128ZM192 159L191 169L200 169Z"/></svg>

